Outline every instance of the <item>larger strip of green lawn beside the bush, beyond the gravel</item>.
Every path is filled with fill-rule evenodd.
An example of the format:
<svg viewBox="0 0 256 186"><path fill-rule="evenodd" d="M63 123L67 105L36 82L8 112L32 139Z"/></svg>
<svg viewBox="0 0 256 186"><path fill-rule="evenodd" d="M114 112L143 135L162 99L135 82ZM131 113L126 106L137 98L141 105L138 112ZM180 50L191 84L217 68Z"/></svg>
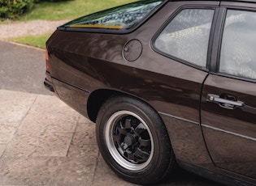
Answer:
<svg viewBox="0 0 256 186"><path fill-rule="evenodd" d="M20 17L20 21L35 19L61 20L75 19L96 11L119 6L136 0L69 0L63 2L40 2L33 10Z"/></svg>

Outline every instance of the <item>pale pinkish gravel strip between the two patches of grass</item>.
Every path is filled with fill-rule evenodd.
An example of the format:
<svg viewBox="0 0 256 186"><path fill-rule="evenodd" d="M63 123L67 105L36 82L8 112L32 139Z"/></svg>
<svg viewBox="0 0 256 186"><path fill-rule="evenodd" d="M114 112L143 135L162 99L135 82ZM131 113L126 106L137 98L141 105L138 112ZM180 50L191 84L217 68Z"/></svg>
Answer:
<svg viewBox="0 0 256 186"><path fill-rule="evenodd" d="M52 33L56 27L67 23L67 21L33 20L22 23L0 23L0 40L7 40L8 38L18 36L37 36Z"/></svg>

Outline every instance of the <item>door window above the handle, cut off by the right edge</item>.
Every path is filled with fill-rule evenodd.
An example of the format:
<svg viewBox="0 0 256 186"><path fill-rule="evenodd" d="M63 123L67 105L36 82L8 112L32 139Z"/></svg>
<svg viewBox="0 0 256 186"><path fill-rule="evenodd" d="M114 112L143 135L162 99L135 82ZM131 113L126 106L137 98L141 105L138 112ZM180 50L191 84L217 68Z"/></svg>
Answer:
<svg viewBox="0 0 256 186"><path fill-rule="evenodd" d="M256 79L256 13L228 10L219 72Z"/></svg>

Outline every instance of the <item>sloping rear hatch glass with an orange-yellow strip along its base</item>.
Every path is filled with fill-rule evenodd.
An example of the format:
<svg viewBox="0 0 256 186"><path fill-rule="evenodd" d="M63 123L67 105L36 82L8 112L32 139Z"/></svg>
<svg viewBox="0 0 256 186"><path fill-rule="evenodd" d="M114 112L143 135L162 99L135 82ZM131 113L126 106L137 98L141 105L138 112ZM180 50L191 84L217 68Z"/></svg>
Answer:
<svg viewBox="0 0 256 186"><path fill-rule="evenodd" d="M129 30L137 27L148 15L156 11L163 1L146 0L132 2L124 6L117 6L106 11L99 11L91 15L85 15L59 27L69 30L70 28L80 29L111 29ZM69 29L67 29L69 28ZM77 29L76 29L77 30ZM81 31L81 30L80 30Z"/></svg>

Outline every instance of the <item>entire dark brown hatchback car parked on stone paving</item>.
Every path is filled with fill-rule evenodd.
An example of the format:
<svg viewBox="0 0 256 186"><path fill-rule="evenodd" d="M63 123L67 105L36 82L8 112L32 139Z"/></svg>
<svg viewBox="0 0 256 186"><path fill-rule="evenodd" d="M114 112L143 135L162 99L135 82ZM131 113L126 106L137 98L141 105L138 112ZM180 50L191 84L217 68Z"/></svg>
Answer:
<svg viewBox="0 0 256 186"><path fill-rule="evenodd" d="M45 86L96 123L106 163L256 185L255 1L147 0L58 27Z"/></svg>

